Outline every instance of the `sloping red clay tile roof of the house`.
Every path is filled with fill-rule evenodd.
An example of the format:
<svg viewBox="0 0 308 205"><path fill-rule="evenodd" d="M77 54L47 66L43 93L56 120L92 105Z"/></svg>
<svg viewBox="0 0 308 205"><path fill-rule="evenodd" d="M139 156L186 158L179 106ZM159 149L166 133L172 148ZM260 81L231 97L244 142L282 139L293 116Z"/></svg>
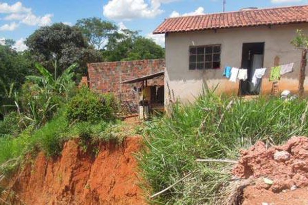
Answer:
<svg viewBox="0 0 308 205"><path fill-rule="evenodd" d="M167 18L153 33L294 23L308 23L308 5Z"/></svg>

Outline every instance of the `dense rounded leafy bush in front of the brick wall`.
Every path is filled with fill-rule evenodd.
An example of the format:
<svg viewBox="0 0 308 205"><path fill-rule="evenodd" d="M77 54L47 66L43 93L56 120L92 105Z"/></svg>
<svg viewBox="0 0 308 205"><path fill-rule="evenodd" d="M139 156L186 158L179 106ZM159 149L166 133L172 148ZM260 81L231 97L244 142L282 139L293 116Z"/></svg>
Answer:
<svg viewBox="0 0 308 205"><path fill-rule="evenodd" d="M115 119L114 98L95 94L88 88L81 88L67 106L67 118L74 121L110 121Z"/></svg>

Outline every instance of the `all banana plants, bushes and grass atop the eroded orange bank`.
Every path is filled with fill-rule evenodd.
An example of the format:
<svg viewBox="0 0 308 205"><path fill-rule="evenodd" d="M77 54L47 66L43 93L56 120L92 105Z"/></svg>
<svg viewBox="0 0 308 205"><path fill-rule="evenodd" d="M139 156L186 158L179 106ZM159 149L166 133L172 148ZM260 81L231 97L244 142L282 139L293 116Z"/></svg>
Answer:
<svg viewBox="0 0 308 205"><path fill-rule="evenodd" d="M95 141L122 140L113 134L121 124L112 95L78 89L72 81L76 65L57 78L39 64L36 68L41 76L27 76L21 95L13 98L17 109L0 121L0 176L10 174L25 154L60 155L70 138L80 137L85 149Z"/></svg>

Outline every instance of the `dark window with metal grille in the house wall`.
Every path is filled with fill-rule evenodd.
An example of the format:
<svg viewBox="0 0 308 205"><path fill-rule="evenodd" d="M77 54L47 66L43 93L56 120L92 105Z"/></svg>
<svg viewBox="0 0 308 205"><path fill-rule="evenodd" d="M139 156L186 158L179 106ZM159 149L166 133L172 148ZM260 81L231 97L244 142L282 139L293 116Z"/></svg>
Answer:
<svg viewBox="0 0 308 205"><path fill-rule="evenodd" d="M189 47L189 70L220 68L221 45Z"/></svg>

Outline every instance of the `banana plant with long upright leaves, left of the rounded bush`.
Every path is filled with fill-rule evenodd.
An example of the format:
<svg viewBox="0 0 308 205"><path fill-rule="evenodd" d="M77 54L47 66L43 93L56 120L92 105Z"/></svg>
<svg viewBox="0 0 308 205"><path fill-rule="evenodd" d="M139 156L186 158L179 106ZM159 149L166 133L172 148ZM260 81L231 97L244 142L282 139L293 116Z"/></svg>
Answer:
<svg viewBox="0 0 308 205"><path fill-rule="evenodd" d="M53 116L59 108L57 98L66 96L71 88L70 85L74 83L73 71L77 66L78 64L71 65L59 77L56 77L42 65L35 64L41 76L26 76L26 79L32 83L31 90L34 91L24 104L26 107L22 121L27 125L26 127L41 127Z"/></svg>

